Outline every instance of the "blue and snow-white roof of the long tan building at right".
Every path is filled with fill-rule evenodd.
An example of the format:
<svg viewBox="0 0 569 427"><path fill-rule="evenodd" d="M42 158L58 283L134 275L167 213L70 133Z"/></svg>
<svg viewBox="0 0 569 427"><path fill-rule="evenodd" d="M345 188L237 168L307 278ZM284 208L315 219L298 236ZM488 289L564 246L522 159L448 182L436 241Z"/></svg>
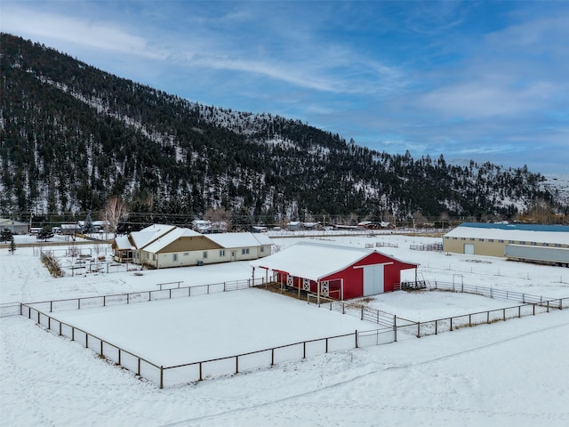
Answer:
<svg viewBox="0 0 569 427"><path fill-rule="evenodd" d="M465 222L446 233L445 238L492 238L494 240L569 245L569 227Z"/></svg>

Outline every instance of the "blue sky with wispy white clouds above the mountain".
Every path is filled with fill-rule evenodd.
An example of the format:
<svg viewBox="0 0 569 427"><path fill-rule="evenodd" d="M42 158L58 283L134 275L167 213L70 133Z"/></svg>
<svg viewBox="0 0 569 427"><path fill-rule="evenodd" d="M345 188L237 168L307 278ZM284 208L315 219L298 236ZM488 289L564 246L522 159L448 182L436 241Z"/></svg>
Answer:
<svg viewBox="0 0 569 427"><path fill-rule="evenodd" d="M569 173L569 2L3 0L0 28L380 151Z"/></svg>

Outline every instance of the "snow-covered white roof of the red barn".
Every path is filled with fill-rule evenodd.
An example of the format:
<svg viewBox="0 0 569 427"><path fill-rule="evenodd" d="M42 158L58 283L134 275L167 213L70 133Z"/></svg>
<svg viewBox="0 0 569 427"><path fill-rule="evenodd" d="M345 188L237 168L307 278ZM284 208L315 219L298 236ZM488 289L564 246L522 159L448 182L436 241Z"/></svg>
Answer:
<svg viewBox="0 0 569 427"><path fill-rule="evenodd" d="M317 281L348 268L374 252L381 254L374 249L299 242L276 254L249 262L249 264L252 267L285 271L297 278ZM389 258L395 259L391 256ZM413 262L405 263L416 265Z"/></svg>

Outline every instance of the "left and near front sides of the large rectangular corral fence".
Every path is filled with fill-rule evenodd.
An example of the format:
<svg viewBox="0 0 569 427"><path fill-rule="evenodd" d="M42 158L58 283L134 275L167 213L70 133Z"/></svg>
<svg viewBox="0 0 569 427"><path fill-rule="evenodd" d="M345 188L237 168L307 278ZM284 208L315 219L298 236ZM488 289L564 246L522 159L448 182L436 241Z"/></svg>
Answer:
<svg viewBox="0 0 569 427"><path fill-rule="evenodd" d="M395 332L391 329L377 329L350 334L340 334L317 338L314 340L294 342L264 350L251 351L219 359L209 359L191 362L183 365L164 367L157 362L124 350L120 346L108 342L99 336L90 334L84 329L62 322L51 315L27 304L20 304L20 314L46 330L65 336L78 342L86 349L91 349L100 357L114 362L156 383L160 389L175 385L194 383L208 378L236 375L240 372L251 371L262 367L272 367L278 363L290 360L306 359L333 351L351 350L358 347L369 347L395 341Z"/></svg>

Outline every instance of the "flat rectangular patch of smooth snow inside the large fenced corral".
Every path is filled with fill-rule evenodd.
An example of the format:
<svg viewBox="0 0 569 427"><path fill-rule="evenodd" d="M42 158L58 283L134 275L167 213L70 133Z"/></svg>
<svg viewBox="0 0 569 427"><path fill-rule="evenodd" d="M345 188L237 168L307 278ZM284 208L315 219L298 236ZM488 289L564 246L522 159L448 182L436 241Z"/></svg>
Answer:
<svg viewBox="0 0 569 427"><path fill-rule="evenodd" d="M53 317L164 367L379 327L254 288Z"/></svg>

